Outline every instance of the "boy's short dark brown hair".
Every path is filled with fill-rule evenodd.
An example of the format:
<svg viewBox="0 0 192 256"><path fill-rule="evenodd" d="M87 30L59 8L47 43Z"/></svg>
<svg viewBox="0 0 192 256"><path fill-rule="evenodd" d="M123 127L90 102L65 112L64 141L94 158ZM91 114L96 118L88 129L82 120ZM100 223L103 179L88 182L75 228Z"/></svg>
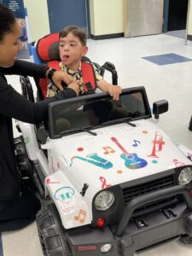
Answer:
<svg viewBox="0 0 192 256"><path fill-rule="evenodd" d="M66 26L60 33L59 38L65 38L69 33L72 33L74 37L79 38L81 44L83 46L86 45L87 36L83 28L76 26L76 25L70 25Z"/></svg>

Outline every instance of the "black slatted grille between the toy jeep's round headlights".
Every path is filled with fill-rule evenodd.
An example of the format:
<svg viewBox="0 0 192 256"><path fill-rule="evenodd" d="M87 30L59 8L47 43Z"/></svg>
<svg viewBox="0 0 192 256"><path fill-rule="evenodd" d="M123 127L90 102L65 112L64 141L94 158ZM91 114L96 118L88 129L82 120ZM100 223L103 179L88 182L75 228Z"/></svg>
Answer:
<svg viewBox="0 0 192 256"><path fill-rule="evenodd" d="M123 196L124 196L124 205L126 206L131 199L145 195L160 189L166 189L169 187L174 186L174 177L173 175L167 177L161 177L160 179L156 179L154 181L150 181L148 183L140 183L134 187L125 188L123 189ZM151 204L145 205L142 208L137 209L134 212L134 216L152 212L154 210L160 209L161 207L170 206L174 203L177 203L177 198L175 196L166 197L163 200L155 201Z"/></svg>

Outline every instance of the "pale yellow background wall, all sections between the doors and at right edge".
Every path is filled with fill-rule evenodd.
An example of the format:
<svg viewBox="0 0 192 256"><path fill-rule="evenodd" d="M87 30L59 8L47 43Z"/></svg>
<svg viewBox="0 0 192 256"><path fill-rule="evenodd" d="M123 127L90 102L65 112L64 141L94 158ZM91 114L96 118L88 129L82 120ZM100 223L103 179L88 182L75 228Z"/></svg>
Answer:
<svg viewBox="0 0 192 256"><path fill-rule="evenodd" d="M106 35L124 32L124 0L87 0L90 1L90 32L92 35ZM47 0L24 0L28 13L31 40L49 34ZM189 9L189 30L192 36L192 0Z"/></svg>

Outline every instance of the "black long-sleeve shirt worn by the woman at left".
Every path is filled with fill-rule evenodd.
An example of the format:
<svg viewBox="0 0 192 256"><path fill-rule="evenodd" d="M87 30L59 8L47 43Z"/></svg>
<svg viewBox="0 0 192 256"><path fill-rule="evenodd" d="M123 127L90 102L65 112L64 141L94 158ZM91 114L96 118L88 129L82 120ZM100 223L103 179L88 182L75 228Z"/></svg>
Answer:
<svg viewBox="0 0 192 256"><path fill-rule="evenodd" d="M46 101L29 102L7 83L4 75L45 78L46 71L47 67L27 61L15 61L13 67L0 67L0 201L13 200L20 194L12 118L32 124L38 123L47 116L49 102L76 96L74 90L66 89Z"/></svg>

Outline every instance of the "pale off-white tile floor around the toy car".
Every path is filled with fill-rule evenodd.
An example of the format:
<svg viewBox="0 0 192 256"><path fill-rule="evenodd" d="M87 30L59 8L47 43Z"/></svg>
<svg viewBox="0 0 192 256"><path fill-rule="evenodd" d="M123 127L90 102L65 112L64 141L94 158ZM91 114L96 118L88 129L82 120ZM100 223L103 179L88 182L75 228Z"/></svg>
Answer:
<svg viewBox="0 0 192 256"><path fill-rule="evenodd" d="M192 149L192 131L188 130L192 114L192 42L184 44L184 32L168 32L138 38L116 38L109 40L88 40L88 57L99 64L111 61L123 87L144 85L149 102L166 99L169 112L160 116L160 127L177 143ZM183 61L171 58L162 62L162 55L179 55ZM161 65L146 61L148 56L161 57ZM184 58L189 60L184 61ZM165 65L166 64L166 65ZM106 78L110 79L109 74ZM10 83L19 89L19 79L8 77ZM0 256L42 256L35 224L24 230L3 233L3 252ZM139 252L140 256L190 256L192 245L184 246L177 240L166 241L158 246Z"/></svg>

